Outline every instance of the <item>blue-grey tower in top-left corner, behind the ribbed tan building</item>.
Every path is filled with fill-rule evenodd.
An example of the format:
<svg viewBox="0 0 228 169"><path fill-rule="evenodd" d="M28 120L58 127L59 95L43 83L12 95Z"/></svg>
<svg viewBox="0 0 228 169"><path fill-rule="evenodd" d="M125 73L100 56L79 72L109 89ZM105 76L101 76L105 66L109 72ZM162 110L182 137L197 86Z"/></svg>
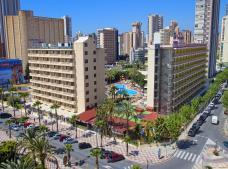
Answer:
<svg viewBox="0 0 228 169"><path fill-rule="evenodd" d="M4 16L17 15L20 10L20 0L0 0L0 40L3 44L3 53L5 55L5 27Z"/></svg>

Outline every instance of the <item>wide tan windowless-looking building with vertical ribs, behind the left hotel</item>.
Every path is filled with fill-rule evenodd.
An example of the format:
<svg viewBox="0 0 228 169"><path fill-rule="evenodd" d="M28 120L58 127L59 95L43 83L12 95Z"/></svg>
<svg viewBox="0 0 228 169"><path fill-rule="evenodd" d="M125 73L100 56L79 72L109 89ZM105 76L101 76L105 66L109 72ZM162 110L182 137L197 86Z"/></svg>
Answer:
<svg viewBox="0 0 228 169"><path fill-rule="evenodd" d="M5 16L6 53L8 58L19 58L25 70L28 48L41 43L64 43L64 20L34 16L33 11L19 11Z"/></svg>

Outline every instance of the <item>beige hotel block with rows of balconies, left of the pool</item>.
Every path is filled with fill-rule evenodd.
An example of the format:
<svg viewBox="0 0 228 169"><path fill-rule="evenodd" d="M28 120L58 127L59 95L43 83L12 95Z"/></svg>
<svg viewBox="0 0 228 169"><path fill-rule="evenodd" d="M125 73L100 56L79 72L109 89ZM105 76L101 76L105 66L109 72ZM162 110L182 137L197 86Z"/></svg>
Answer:
<svg viewBox="0 0 228 169"><path fill-rule="evenodd" d="M32 96L58 103L69 116L96 107L105 98L105 52L94 38L80 37L73 47L28 49Z"/></svg>

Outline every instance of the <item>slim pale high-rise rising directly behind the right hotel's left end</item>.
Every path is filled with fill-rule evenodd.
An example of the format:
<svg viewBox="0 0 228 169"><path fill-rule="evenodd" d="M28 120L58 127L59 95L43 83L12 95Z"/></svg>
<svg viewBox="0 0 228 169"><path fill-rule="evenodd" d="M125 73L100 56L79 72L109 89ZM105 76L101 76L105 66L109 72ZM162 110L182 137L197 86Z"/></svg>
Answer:
<svg viewBox="0 0 228 169"><path fill-rule="evenodd" d="M149 15L148 16L148 45L152 45L154 41L154 33L163 29L163 16Z"/></svg>

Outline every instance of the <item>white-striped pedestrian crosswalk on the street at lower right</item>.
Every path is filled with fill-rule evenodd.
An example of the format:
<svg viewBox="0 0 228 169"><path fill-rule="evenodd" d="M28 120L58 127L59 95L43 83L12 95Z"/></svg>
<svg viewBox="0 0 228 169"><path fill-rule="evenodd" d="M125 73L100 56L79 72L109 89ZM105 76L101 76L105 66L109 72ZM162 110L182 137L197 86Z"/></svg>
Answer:
<svg viewBox="0 0 228 169"><path fill-rule="evenodd" d="M181 151L181 150L177 150L174 155L175 158L178 159L182 159L182 160L186 160L192 163L199 163L201 160L200 155L198 154L194 154L194 153L190 153L187 151Z"/></svg>

